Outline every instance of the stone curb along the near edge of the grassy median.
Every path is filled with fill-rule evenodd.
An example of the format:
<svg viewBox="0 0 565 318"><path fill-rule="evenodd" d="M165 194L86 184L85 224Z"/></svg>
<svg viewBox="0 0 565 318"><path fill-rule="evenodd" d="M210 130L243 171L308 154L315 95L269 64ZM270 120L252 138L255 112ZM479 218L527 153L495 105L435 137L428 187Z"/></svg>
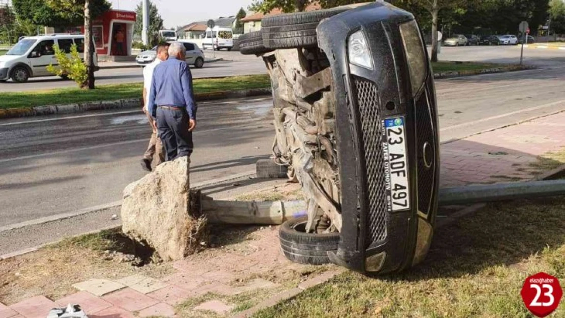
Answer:
<svg viewBox="0 0 565 318"><path fill-rule="evenodd" d="M198 102L215 101L218 99L242 98L271 95L270 88L234 90L231 92L197 93L194 98ZM136 108L142 106L140 98L119 99L117 101L85 102L77 104L34 106L25 108L8 108L0 110L0 119L31 117L43 115L75 114L86 111L116 110L124 108Z"/></svg>

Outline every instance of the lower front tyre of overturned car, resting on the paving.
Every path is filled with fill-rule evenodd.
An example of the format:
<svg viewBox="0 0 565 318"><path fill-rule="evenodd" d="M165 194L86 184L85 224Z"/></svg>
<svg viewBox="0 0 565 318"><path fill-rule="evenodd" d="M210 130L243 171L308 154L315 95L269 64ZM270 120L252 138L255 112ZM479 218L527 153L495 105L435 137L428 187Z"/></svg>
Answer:
<svg viewBox="0 0 565 318"><path fill-rule="evenodd" d="M328 252L337 252L340 233L306 233L307 217L282 223L279 239L282 253L292 262L301 264L328 264Z"/></svg>

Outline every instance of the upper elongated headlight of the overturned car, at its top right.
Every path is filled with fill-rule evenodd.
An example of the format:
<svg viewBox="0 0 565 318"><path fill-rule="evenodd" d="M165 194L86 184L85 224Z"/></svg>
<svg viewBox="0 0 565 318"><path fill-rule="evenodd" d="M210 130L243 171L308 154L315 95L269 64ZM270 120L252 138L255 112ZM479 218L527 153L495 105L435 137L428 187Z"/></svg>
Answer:
<svg viewBox="0 0 565 318"><path fill-rule="evenodd" d="M404 43L406 59L408 60L408 69L410 70L412 95L415 96L424 84L428 73L428 59L424 53L425 46L415 20L401 24L400 34Z"/></svg>

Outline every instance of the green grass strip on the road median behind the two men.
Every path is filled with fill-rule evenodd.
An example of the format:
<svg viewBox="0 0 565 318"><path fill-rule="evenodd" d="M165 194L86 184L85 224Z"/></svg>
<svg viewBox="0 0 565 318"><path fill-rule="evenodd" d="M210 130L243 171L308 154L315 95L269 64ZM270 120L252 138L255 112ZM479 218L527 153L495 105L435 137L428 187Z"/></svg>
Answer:
<svg viewBox="0 0 565 318"><path fill-rule="evenodd" d="M2 85L2 84L0 84ZM19 84L10 84L19 85ZM0 108L23 108L54 104L74 104L94 101L141 98L142 83L99 85L93 90L63 88L32 92L0 93ZM221 79L195 79L194 93L216 93L234 90L269 88L268 75L232 76Z"/></svg>

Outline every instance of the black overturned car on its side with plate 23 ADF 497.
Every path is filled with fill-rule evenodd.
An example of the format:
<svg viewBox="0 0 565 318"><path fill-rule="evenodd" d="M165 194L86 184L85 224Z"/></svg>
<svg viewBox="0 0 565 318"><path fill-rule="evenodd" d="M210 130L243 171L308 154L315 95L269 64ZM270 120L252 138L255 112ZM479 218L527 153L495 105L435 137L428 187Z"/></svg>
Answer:
<svg viewBox="0 0 565 318"><path fill-rule="evenodd" d="M280 229L287 258L363 273L421 262L437 212L436 95L414 16L385 2L267 16L240 37L271 76L275 164L307 217Z"/></svg>

